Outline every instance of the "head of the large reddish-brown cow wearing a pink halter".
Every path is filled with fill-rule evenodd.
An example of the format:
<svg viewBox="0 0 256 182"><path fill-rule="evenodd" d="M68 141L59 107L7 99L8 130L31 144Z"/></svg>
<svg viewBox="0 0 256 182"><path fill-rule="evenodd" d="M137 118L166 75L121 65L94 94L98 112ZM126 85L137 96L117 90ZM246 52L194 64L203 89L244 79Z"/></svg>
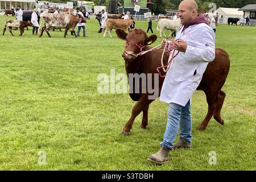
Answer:
<svg viewBox="0 0 256 182"><path fill-rule="evenodd" d="M146 32L142 29L133 29L127 34L120 28L115 30L118 38L126 40L125 51L123 51L123 59L126 61L133 61L138 53L145 51L147 46L154 43L158 38L156 35L147 36Z"/></svg>

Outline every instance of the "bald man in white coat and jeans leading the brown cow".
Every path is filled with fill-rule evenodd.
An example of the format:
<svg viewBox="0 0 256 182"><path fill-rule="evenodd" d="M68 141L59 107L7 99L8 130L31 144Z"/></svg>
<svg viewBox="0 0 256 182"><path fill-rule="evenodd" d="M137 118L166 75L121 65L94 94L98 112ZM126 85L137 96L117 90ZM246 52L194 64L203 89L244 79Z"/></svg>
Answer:
<svg viewBox="0 0 256 182"><path fill-rule="evenodd" d="M191 148L191 96L210 61L215 58L215 34L203 15L197 14L197 3L184 0L179 5L181 27L177 32L172 60L164 79L160 101L167 102L167 126L160 150L148 160L163 164L173 148ZM163 41L163 43L165 43ZM169 60L172 57L172 52ZM173 144L180 127L180 140Z"/></svg>

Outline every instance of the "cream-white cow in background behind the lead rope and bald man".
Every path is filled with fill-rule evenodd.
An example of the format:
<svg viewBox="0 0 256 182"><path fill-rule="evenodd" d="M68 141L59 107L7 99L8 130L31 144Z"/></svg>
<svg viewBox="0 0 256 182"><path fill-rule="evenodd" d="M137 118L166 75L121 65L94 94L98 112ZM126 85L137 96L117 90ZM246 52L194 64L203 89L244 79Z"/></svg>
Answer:
<svg viewBox="0 0 256 182"><path fill-rule="evenodd" d="M156 27L156 29L158 31L160 31L160 38L162 38L162 32L164 34L164 29L166 30L170 30L170 35L172 34L172 32L177 32L179 30L180 27L180 19L177 20L171 20L171 19L159 19L158 20L158 27ZM164 34L164 36L166 37L166 34Z"/></svg>

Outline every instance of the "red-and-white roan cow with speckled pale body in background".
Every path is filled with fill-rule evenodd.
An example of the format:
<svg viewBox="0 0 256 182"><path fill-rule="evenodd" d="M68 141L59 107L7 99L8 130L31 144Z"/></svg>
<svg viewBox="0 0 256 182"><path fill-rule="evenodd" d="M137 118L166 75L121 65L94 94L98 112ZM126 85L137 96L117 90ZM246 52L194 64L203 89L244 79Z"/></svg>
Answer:
<svg viewBox="0 0 256 182"><path fill-rule="evenodd" d="M77 37L75 32L76 24L79 22L86 22L86 19L82 18L81 15L43 13L41 16L43 17L44 27L42 27L40 37L43 35L45 30L50 38L51 35L49 34L49 29L52 27L65 28L64 38L66 37L68 30L73 32L75 37Z"/></svg>

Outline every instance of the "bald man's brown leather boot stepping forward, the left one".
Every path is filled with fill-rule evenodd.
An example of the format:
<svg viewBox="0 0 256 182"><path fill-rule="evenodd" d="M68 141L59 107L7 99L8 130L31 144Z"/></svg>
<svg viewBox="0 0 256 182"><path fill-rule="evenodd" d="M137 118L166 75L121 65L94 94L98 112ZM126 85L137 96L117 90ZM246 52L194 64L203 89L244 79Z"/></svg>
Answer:
<svg viewBox="0 0 256 182"><path fill-rule="evenodd" d="M160 150L155 154L150 155L147 160L156 163L156 164L164 164L169 160L169 151L170 149L164 146L161 146Z"/></svg>

